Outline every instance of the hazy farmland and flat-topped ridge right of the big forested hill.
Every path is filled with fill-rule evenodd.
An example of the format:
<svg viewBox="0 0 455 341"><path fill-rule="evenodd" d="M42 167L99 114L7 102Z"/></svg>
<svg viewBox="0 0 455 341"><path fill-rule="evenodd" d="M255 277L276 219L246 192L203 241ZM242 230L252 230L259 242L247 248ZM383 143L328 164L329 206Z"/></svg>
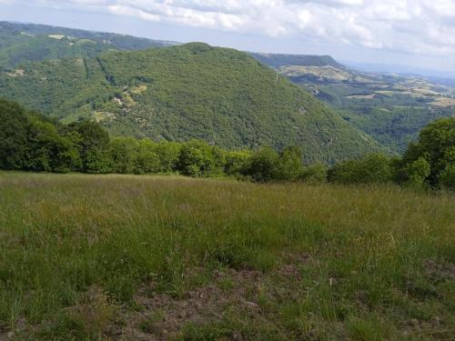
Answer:
<svg viewBox="0 0 455 341"><path fill-rule="evenodd" d="M423 126L455 115L455 89L450 88L455 83L448 79L360 72L324 56L254 56L396 152L403 152Z"/></svg>

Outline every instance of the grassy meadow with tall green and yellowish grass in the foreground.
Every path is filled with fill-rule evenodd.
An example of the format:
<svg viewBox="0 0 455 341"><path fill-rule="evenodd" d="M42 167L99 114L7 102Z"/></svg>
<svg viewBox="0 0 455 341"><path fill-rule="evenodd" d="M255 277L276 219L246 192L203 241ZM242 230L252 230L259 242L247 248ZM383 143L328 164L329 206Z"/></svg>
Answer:
<svg viewBox="0 0 455 341"><path fill-rule="evenodd" d="M455 196L0 173L0 340L449 340Z"/></svg>

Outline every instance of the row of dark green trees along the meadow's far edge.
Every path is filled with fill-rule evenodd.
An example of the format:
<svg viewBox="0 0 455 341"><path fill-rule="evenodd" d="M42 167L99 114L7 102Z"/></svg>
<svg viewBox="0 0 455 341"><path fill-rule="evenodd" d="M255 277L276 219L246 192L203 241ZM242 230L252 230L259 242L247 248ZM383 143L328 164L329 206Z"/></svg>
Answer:
<svg viewBox="0 0 455 341"><path fill-rule="evenodd" d="M304 165L301 149L268 146L227 150L200 140L154 142L111 138L95 121L64 125L0 99L0 168L56 173L233 176L258 182L339 184L395 182L417 188L455 189L455 118L437 120L420 132L403 157L369 154L328 167Z"/></svg>

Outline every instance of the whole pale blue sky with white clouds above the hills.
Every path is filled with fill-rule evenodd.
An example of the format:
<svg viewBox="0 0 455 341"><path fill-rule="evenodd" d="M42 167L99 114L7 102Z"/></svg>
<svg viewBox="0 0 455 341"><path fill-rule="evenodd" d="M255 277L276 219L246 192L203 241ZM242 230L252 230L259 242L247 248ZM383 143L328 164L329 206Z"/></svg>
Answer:
<svg viewBox="0 0 455 341"><path fill-rule="evenodd" d="M455 72L455 0L0 0L0 20Z"/></svg>

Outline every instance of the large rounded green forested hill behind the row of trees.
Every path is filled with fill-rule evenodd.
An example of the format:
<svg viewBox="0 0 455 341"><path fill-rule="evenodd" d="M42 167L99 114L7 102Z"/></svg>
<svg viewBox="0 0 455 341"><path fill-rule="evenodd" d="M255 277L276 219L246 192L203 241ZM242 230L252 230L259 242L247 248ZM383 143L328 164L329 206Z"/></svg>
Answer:
<svg viewBox="0 0 455 341"><path fill-rule="evenodd" d="M205 44L48 60L0 75L2 95L114 135L224 147L297 144L307 161L379 149L312 95L251 56Z"/></svg>

